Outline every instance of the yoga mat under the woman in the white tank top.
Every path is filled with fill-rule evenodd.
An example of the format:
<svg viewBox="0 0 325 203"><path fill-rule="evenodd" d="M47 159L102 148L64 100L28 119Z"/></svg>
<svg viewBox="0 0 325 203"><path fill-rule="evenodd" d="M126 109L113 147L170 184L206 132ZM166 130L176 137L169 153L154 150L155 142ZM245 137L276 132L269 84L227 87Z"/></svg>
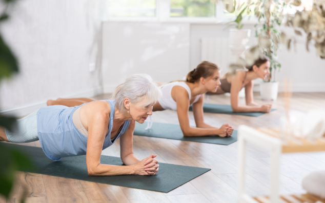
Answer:
<svg viewBox="0 0 325 203"><path fill-rule="evenodd" d="M219 137L214 136L203 136L203 137L184 137L180 130L179 125L175 124L162 124L153 123L151 129L145 130L147 123L139 124L136 123L134 135L147 136L147 137L159 137L166 139L177 139L184 141L196 141L197 143L210 143L218 145L230 145L237 141L237 131L234 130L231 137Z"/></svg>

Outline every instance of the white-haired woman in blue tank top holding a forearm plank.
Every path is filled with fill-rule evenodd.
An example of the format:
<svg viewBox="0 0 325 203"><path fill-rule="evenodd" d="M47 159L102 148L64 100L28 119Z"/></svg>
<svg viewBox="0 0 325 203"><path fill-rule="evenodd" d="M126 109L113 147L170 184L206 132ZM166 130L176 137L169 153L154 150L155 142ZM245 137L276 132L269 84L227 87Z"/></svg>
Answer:
<svg viewBox="0 0 325 203"><path fill-rule="evenodd" d="M52 160L86 154L89 175L155 175L156 155L139 160L133 153L135 121L144 123L161 96L146 74L136 74L119 85L114 99L98 100L75 107L48 106L17 121L19 132L0 129L0 141L28 143L39 140ZM121 160L126 166L100 163L101 151L120 137Z"/></svg>

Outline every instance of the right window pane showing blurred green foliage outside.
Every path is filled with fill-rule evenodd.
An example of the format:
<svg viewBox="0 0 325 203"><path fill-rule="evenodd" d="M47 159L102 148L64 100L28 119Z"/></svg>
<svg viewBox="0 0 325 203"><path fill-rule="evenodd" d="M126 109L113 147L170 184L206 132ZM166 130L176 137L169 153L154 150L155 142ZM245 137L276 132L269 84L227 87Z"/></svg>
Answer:
<svg viewBox="0 0 325 203"><path fill-rule="evenodd" d="M210 0L170 0L171 17L215 17Z"/></svg>

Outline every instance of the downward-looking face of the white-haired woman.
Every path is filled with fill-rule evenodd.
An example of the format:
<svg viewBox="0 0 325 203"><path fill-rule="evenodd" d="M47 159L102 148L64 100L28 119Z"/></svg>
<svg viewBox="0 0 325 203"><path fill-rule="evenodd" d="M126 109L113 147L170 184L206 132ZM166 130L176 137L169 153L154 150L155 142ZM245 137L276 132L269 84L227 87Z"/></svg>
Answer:
<svg viewBox="0 0 325 203"><path fill-rule="evenodd" d="M137 121L140 124L145 123L145 120L149 115L152 115L152 107L154 104L143 106L145 103L146 98L139 101L138 103L132 104L130 103L129 114L131 115L132 119Z"/></svg>

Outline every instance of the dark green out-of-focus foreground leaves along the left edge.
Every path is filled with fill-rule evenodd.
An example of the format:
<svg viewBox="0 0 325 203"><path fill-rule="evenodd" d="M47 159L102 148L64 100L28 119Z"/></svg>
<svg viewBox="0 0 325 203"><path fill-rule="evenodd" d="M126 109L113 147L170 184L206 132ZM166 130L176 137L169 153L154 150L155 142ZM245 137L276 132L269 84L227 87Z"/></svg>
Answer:
<svg viewBox="0 0 325 203"><path fill-rule="evenodd" d="M17 0L0 0L0 5L3 8L0 14L0 24L10 19L9 11L16 2ZM18 70L17 58L0 32L0 83L3 79L18 73ZM13 131L15 123L15 117L3 116L0 113L0 127L5 127ZM15 171L18 169L31 168L32 164L29 158L22 152L15 148L8 147L8 145L3 143L0 143L0 163L0 194L9 198L10 191L14 184ZM22 198L22 202L23 201L24 197Z"/></svg>

